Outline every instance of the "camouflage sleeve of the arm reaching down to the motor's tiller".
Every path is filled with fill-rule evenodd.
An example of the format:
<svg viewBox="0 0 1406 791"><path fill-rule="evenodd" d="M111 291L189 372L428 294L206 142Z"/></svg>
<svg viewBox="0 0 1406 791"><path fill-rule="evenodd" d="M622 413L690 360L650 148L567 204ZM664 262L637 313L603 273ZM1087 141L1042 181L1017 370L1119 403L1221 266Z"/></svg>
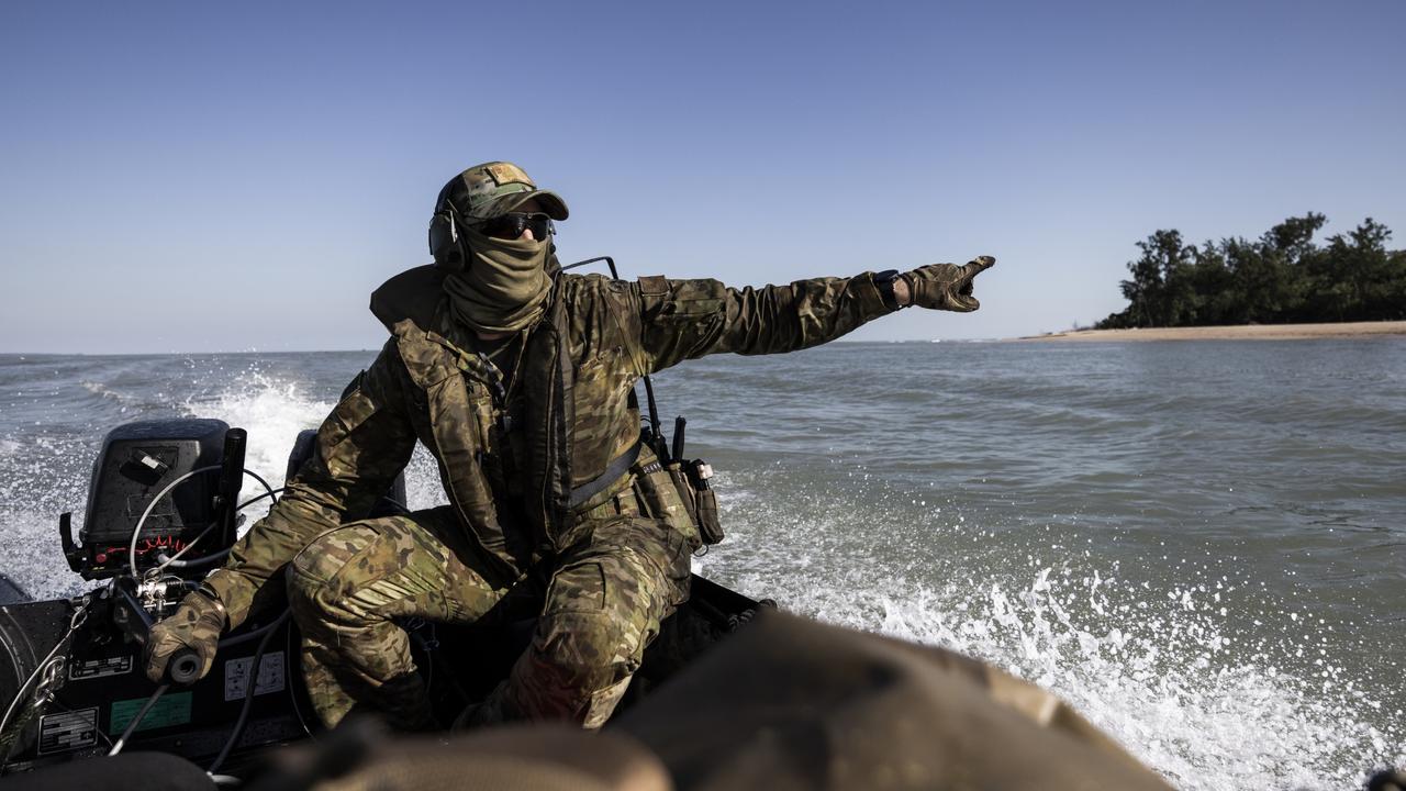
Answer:
<svg viewBox="0 0 1406 791"><path fill-rule="evenodd" d="M404 367L391 341L322 421L316 453L288 481L278 504L235 543L225 567L207 578L225 604L231 628L280 598L283 566L316 535L370 512L409 463L415 432Z"/></svg>

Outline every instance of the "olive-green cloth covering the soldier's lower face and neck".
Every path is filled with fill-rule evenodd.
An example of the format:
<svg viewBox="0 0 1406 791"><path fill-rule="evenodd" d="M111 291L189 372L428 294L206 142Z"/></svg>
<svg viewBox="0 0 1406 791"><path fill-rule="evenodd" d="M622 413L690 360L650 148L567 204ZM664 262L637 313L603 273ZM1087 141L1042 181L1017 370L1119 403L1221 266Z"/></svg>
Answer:
<svg viewBox="0 0 1406 791"><path fill-rule="evenodd" d="M478 332L517 332L541 318L551 243L495 239L470 228L464 241L468 259L444 279L454 317Z"/></svg>

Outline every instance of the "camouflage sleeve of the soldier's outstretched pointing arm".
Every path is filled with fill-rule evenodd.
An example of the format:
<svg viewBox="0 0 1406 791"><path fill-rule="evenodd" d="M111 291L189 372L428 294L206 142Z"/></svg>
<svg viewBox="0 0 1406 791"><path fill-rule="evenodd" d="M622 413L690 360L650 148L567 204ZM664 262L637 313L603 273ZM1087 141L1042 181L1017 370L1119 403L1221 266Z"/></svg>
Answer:
<svg viewBox="0 0 1406 791"><path fill-rule="evenodd" d="M893 312L869 272L762 289L641 277L638 298L645 373L703 355L775 355L818 346Z"/></svg>

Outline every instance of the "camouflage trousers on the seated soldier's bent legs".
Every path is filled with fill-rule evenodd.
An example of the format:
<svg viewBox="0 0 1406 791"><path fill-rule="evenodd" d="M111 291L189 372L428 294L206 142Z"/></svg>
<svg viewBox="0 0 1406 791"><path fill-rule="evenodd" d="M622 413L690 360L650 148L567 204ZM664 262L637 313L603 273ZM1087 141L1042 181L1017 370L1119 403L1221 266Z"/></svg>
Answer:
<svg viewBox="0 0 1406 791"><path fill-rule="evenodd" d="M628 493L627 493L628 494ZM530 647L479 705L477 723L560 719L599 728L659 621L688 598L688 539L624 497L585 515L551 564ZM633 497L630 497L633 500ZM302 670L323 725L353 708L399 729L436 723L398 618L472 624L527 580L495 586L449 507L350 522L290 564ZM538 587L540 590L540 587Z"/></svg>

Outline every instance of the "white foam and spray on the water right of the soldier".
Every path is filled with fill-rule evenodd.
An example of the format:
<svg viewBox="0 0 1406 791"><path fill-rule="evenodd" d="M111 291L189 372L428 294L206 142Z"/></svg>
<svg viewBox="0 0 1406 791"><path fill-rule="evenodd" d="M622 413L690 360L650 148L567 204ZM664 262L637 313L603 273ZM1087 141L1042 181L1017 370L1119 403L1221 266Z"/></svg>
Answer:
<svg viewBox="0 0 1406 791"><path fill-rule="evenodd" d="M842 508L787 515L720 493L731 539L707 556L720 581L823 621L991 662L1053 690L1180 788L1348 788L1376 766L1406 763L1402 714L1389 726L1379 715L1402 701L1364 694L1329 660L1299 659L1306 642L1330 643L1302 621L1285 615L1278 638L1247 645L1232 618L1278 615L1232 584L1159 588L1116 569L1035 557L1025 569L991 567L977 555L917 578L862 553L837 557L827 542L855 529ZM935 529L972 528L953 515ZM945 584L928 581L943 574Z"/></svg>

